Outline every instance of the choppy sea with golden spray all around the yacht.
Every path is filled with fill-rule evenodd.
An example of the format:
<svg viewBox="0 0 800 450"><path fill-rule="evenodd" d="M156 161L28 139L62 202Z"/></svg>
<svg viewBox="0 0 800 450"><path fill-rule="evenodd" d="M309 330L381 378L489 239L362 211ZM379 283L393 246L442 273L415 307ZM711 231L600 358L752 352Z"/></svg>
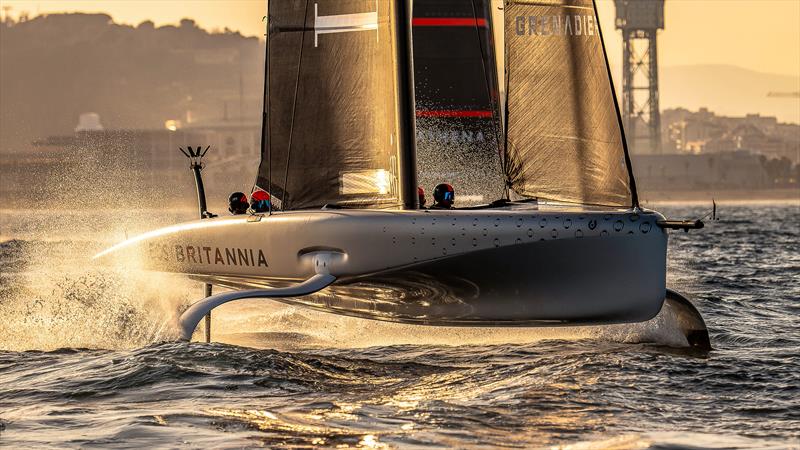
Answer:
<svg viewBox="0 0 800 450"><path fill-rule="evenodd" d="M708 205L659 208L704 215ZM202 290L89 258L191 211L0 211L0 446L798 448L800 205L731 204L670 238L670 317L434 328L265 300L175 343Z"/></svg>

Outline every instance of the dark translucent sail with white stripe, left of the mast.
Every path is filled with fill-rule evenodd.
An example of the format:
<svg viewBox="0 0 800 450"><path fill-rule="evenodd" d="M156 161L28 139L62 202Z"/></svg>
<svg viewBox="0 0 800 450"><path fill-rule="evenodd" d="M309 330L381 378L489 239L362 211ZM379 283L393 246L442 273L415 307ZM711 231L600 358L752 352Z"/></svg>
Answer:
<svg viewBox="0 0 800 450"><path fill-rule="evenodd" d="M268 3L256 184L281 209L399 206L394 2Z"/></svg>

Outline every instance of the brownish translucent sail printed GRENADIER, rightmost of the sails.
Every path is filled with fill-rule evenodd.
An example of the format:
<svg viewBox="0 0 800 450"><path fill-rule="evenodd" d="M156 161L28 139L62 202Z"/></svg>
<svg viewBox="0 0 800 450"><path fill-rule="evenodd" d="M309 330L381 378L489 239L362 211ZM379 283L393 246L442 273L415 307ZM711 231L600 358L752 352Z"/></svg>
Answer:
<svg viewBox="0 0 800 450"><path fill-rule="evenodd" d="M631 206L592 1L511 0L504 12L509 187L524 197Z"/></svg>

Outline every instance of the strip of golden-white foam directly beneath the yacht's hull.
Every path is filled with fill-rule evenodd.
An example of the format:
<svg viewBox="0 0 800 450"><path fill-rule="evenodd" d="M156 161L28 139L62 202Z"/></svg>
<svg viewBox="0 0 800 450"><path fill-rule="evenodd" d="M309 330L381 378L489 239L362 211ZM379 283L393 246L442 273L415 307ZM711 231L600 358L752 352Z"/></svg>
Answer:
<svg viewBox="0 0 800 450"><path fill-rule="evenodd" d="M542 340L687 345L671 310L642 323L579 327L437 327L344 317L270 300L231 303L214 311L215 341L264 347L319 345L498 345ZM248 334L250 335L248 337ZM256 337L257 336L257 337ZM302 336L304 339L287 336Z"/></svg>

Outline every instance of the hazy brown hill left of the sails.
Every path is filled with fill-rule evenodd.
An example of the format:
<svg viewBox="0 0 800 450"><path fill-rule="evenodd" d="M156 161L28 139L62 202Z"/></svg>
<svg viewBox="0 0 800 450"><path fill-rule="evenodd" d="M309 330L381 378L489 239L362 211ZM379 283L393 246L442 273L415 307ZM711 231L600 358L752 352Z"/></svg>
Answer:
<svg viewBox="0 0 800 450"><path fill-rule="evenodd" d="M107 129L152 129L168 119L258 120L263 43L210 33L194 21L136 27L106 14L49 14L0 22L0 152L72 134L95 112ZM244 101L240 103L240 98Z"/></svg>

